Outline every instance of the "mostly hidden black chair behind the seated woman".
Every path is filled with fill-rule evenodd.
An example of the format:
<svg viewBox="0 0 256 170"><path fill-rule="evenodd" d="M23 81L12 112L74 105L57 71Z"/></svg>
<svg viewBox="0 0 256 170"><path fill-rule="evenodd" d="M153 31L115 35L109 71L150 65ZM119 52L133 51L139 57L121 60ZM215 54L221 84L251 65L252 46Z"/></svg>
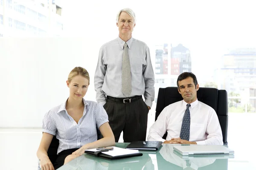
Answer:
<svg viewBox="0 0 256 170"><path fill-rule="evenodd" d="M97 128L97 136L98 136L98 140L102 139L102 135L98 128ZM54 162L56 161L57 156L58 156L57 155L58 145L59 145L59 140L56 138L56 136L53 136L52 142L51 142L48 152L47 152L48 157L49 157L50 161L52 162L52 164L54 164Z"/></svg>

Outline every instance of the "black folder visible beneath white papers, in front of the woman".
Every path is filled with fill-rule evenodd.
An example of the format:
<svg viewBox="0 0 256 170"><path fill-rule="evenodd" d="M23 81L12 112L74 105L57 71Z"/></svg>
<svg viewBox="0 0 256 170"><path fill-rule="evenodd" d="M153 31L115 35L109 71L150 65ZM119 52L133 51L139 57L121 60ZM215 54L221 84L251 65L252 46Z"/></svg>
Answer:
<svg viewBox="0 0 256 170"><path fill-rule="evenodd" d="M110 156L104 153L104 150L99 150L96 152L93 151L87 151L85 150L84 153L89 153L91 155L97 156L97 157L102 157L105 159L121 159L121 158L129 158L129 157L133 157L133 156L142 156L142 153L132 153L132 154L127 154L127 155L118 155L118 156Z"/></svg>

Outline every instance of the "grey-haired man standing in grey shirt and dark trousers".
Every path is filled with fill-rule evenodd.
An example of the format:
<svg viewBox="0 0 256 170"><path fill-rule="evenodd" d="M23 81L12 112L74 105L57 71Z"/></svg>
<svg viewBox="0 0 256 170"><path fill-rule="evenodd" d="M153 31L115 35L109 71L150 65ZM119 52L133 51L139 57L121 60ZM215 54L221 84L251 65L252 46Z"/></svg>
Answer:
<svg viewBox="0 0 256 170"><path fill-rule="evenodd" d="M135 25L131 9L118 12L119 36L100 48L94 77L96 100L108 113L116 142L122 131L124 142L146 139L148 111L154 101L149 48L132 37Z"/></svg>

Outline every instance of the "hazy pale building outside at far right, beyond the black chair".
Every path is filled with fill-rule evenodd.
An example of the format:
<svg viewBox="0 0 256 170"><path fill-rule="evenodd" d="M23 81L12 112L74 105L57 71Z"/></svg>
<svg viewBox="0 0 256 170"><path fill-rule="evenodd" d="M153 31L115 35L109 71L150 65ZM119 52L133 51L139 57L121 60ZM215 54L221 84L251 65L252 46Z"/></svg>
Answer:
<svg viewBox="0 0 256 170"><path fill-rule="evenodd" d="M256 48L236 48L228 50L221 57L220 67L216 70L218 88L228 93L239 94L239 105L252 105L256 108ZM253 110L253 109L252 109Z"/></svg>

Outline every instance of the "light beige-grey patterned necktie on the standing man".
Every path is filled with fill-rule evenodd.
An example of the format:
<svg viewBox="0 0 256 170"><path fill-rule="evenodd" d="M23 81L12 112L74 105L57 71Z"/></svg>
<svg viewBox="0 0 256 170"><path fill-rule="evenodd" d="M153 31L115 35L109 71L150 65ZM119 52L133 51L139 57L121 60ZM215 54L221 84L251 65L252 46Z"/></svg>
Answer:
<svg viewBox="0 0 256 170"><path fill-rule="evenodd" d="M126 97L131 94L131 64L126 42L124 45L124 53L122 58L122 93Z"/></svg>

